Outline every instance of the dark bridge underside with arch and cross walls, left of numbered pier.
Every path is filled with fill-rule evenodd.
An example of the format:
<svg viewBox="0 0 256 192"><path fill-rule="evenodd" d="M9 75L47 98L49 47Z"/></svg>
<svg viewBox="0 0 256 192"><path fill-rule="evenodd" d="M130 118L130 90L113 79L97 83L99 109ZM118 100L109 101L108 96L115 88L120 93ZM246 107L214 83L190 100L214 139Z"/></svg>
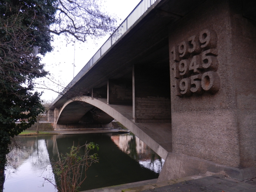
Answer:
<svg viewBox="0 0 256 192"><path fill-rule="evenodd" d="M172 151L168 24L203 1L193 2L184 11L182 4L173 10L172 2L163 1L138 20L54 104L54 128L109 127L115 118L165 159ZM130 123L77 100L81 95L111 106Z"/></svg>

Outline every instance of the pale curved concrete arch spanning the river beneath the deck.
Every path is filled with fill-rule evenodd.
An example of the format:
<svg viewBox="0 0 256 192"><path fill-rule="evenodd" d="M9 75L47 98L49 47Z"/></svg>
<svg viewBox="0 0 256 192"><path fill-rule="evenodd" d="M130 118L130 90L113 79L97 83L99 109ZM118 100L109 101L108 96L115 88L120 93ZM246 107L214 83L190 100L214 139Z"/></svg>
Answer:
<svg viewBox="0 0 256 192"><path fill-rule="evenodd" d="M79 106L79 105L75 104L76 102L78 102L78 103L83 102L83 103L85 103L85 105L88 106L88 108L85 109L84 106L81 107L81 105ZM72 118L72 116L69 116L69 117L63 116L63 113L65 111L68 111L67 108L68 108L68 106L70 106L70 104L71 104L71 107L68 110L81 110L83 108L82 111L80 111L80 112L78 111L77 118L75 118L76 120L74 120L74 121L70 120ZM118 122L123 124L126 128L128 128L132 133L134 133L137 137L139 137L144 143L146 143L159 156L161 156L163 159L166 158L167 153L169 151L167 151L160 144L158 144L158 142L156 140L152 139L150 134L144 132L143 127L145 127L145 126L142 126L138 123L134 123L132 121L132 106L108 105L107 100L103 99L103 98L94 99L94 98L88 97L88 96L79 96L79 97L75 97L75 98L68 100L63 105L56 122L57 122L57 124L64 124L67 122L75 123L75 122L77 122L77 119L79 117L82 117L86 113L86 111L89 110L89 108L93 108L93 107L101 109L108 116L112 117L112 119L116 119ZM69 118L69 120L68 120L68 118ZM152 135L153 135L153 133L152 133Z"/></svg>

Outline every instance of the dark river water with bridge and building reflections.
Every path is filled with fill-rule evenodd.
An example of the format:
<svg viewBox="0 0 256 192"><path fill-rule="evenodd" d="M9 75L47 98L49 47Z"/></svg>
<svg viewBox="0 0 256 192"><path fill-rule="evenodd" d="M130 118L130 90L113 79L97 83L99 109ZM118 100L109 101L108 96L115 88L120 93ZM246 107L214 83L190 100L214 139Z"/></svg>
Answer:
<svg viewBox="0 0 256 192"><path fill-rule="evenodd" d="M6 167L4 192L57 191L43 177L52 175L50 160L69 152L73 142L75 146L94 142L100 147L99 163L89 167L79 191L155 179L164 164L160 156L131 132L19 136L18 142L24 150L11 153L13 161Z"/></svg>

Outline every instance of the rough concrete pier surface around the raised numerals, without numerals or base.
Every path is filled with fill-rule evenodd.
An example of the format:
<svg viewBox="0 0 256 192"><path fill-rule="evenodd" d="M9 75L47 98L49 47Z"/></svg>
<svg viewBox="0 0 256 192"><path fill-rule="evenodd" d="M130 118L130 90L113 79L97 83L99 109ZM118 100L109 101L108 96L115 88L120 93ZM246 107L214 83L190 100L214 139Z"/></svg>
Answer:
<svg viewBox="0 0 256 192"><path fill-rule="evenodd" d="M174 44L204 29L217 33L221 83L216 94L190 97L175 95L171 86L172 152L232 167L252 167L256 159L256 28L237 10L241 1L236 3L233 8L233 1L206 1L169 27L170 65ZM174 85L172 70L170 74Z"/></svg>

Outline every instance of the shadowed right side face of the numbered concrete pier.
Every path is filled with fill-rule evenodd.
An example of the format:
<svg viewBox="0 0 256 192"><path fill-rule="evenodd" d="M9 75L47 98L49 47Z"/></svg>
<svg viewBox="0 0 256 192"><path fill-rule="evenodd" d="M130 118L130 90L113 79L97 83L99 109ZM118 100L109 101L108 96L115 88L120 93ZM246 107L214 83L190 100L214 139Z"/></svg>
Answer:
<svg viewBox="0 0 256 192"><path fill-rule="evenodd" d="M231 67L234 73L240 166L251 167L256 165L256 24L242 16L242 8L242 1L230 1Z"/></svg>

